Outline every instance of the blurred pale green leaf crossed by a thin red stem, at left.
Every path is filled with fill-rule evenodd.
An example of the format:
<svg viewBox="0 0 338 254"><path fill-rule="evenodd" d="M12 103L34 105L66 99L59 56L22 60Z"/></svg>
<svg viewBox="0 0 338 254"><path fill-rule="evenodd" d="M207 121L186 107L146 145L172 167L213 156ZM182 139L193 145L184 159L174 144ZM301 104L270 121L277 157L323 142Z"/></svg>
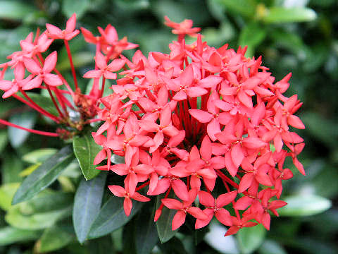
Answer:
<svg viewBox="0 0 338 254"><path fill-rule="evenodd" d="M13 114L9 121L18 126L25 128L32 128L37 120L37 114L33 111L25 111L20 114ZM21 144L25 142L28 135L28 131L21 130L15 127L8 127L8 138L11 145L15 148L20 147Z"/></svg>

